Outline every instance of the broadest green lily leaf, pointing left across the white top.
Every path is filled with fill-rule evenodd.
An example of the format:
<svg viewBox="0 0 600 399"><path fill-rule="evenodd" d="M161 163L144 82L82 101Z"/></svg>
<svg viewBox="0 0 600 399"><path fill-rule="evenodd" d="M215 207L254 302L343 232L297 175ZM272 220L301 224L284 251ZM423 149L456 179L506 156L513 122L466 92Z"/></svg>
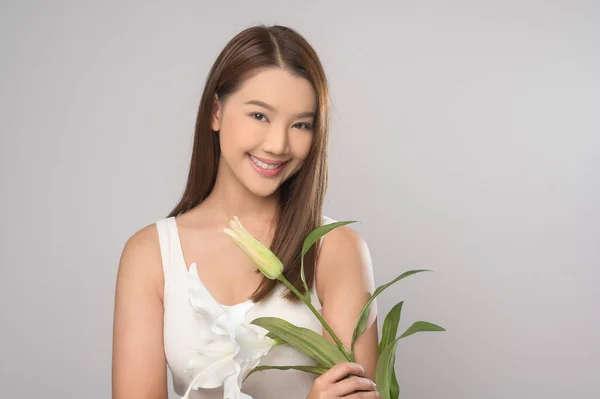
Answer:
<svg viewBox="0 0 600 399"><path fill-rule="evenodd" d="M298 327L278 317L259 317L252 324L272 332L277 338L313 359L319 366L331 368L347 361L340 350L317 332Z"/></svg>

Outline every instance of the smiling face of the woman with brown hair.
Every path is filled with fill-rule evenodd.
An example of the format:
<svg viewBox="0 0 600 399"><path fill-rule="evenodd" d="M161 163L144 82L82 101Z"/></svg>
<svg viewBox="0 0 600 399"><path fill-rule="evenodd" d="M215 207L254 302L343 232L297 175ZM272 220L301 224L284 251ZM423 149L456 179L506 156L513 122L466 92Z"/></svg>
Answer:
<svg viewBox="0 0 600 399"><path fill-rule="evenodd" d="M273 194L309 153L316 107L308 80L281 68L252 75L223 103L215 101L212 129L220 132L219 173L255 195Z"/></svg>

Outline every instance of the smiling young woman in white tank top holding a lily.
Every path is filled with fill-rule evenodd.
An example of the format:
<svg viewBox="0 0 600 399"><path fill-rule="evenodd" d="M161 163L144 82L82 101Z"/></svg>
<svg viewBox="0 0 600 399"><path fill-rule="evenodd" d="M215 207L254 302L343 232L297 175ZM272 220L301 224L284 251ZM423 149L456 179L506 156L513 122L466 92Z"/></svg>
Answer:
<svg viewBox="0 0 600 399"><path fill-rule="evenodd" d="M190 281L200 282L200 301L221 309L252 304L246 322L282 317L331 340L306 305L283 284L257 273L223 233L228 220L238 216L304 292L302 242L328 220L322 214L327 141L328 86L313 48L283 26L255 26L236 35L206 81L181 201L123 249L115 295L113 399L167 398L167 366L175 391L186 392L194 377L188 369L196 354L192 341L208 328L190 306ZM339 227L304 262L313 304L349 348L358 314L373 292L364 241L351 228ZM376 315L373 307L355 346L356 363L336 365L318 377L294 370L257 372L242 392L254 399L377 397ZM279 345L261 364L314 363ZM192 390L190 397L223 398L223 387Z"/></svg>

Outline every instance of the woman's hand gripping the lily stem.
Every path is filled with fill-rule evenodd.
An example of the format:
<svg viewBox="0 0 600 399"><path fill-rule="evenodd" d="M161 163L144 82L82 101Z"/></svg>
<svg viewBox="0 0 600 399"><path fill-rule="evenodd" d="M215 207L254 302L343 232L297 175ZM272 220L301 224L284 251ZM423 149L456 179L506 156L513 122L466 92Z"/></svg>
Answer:
<svg viewBox="0 0 600 399"><path fill-rule="evenodd" d="M348 378L346 378L348 377ZM315 379L306 399L378 398L375 383L357 363L340 363Z"/></svg>

